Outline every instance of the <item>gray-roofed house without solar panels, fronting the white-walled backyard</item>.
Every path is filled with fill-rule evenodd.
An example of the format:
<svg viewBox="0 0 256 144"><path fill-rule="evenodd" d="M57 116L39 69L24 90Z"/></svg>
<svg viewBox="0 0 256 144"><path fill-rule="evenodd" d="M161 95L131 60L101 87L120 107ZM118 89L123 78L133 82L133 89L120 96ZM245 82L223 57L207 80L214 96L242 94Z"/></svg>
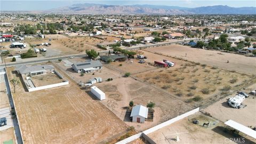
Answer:
<svg viewBox="0 0 256 144"><path fill-rule="evenodd" d="M37 75L45 75L48 72L52 72L54 67L52 65L35 65L35 66L17 66L15 68L18 74L22 76L37 76Z"/></svg>

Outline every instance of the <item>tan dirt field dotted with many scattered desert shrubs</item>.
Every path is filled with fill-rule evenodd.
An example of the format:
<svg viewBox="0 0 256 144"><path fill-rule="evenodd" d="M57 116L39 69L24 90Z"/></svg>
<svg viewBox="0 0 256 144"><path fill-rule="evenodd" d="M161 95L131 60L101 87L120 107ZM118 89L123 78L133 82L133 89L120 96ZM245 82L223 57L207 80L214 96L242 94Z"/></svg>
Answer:
<svg viewBox="0 0 256 144"><path fill-rule="evenodd" d="M167 59L173 61L175 66L146 71L137 74L136 77L150 85L156 85L185 102L191 102L191 105L203 99L211 99L214 95L225 94L233 87L247 83L252 78L218 67L209 67L146 51L143 51L143 55L148 57L146 62L153 63L154 60Z"/></svg>

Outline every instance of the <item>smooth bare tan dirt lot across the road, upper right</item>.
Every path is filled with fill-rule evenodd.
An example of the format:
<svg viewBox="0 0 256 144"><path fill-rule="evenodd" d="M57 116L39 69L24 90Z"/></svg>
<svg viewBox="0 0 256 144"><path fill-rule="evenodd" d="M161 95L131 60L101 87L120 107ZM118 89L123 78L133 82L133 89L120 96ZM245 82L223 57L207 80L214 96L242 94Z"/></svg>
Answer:
<svg viewBox="0 0 256 144"><path fill-rule="evenodd" d="M222 69L235 70L244 74L255 74L256 58L245 57L240 54L225 53L220 51L193 49L189 46L172 44L162 47L152 47L146 51L162 53L172 57L178 57L189 61L200 62ZM186 56L187 53L187 57ZM227 63L227 60L229 63Z"/></svg>

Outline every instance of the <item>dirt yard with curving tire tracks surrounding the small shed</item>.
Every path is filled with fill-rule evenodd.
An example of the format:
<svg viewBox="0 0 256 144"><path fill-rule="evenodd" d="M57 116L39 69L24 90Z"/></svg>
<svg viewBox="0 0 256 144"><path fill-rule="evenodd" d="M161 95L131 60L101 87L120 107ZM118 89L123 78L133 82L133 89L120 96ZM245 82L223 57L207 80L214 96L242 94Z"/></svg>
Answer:
<svg viewBox="0 0 256 144"><path fill-rule="evenodd" d="M97 83L95 85L107 95L106 100L101 101L103 105L113 111L127 125L134 126L137 131L146 130L191 110L191 107L186 103L131 77L122 77L113 79L109 83ZM131 100L134 101L135 105L143 106L146 106L150 101L155 102L153 122L132 123L129 119L130 115L126 115L126 108L129 107Z"/></svg>

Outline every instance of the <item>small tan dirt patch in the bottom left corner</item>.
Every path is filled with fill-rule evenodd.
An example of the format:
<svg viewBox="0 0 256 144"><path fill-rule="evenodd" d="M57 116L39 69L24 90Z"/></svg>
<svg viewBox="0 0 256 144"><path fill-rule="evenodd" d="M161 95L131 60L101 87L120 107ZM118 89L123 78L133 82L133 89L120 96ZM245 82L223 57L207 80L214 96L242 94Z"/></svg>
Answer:
<svg viewBox="0 0 256 144"><path fill-rule="evenodd" d="M14 135L14 128L10 127L9 129L0 131L0 143L4 141L12 140L15 143L15 135Z"/></svg>

